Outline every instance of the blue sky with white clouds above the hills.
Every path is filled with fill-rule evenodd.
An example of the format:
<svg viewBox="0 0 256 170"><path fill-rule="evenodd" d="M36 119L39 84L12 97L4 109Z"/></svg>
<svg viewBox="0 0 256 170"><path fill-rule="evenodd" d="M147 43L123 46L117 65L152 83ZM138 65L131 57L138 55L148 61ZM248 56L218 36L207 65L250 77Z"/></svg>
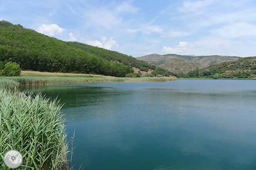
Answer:
<svg viewBox="0 0 256 170"><path fill-rule="evenodd" d="M0 20L133 57L256 56L256 0L0 0Z"/></svg>

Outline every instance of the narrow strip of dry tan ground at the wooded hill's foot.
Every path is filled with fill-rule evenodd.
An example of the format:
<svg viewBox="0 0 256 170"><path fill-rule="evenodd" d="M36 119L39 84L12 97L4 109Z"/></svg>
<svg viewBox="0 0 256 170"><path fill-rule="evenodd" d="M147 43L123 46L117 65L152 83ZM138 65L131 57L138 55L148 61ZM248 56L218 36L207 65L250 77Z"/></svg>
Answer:
<svg viewBox="0 0 256 170"><path fill-rule="evenodd" d="M98 76L98 77L112 77L112 76L106 76L106 75L94 75L94 74L74 74L74 73L51 73L51 72L38 72L38 71L22 71L23 76L26 75L52 75L52 76L59 76L59 75L92 75L92 76Z"/></svg>

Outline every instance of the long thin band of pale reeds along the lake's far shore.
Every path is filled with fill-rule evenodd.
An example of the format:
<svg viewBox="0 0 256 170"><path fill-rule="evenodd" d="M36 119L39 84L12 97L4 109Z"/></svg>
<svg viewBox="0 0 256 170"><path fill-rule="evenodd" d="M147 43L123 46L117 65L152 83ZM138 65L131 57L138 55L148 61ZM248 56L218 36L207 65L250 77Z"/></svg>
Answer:
<svg viewBox="0 0 256 170"><path fill-rule="evenodd" d="M79 84L79 83L101 83L101 82L166 82L174 81L176 78L168 77L0 77L0 81L15 81L20 86L32 85L57 85L57 84Z"/></svg>

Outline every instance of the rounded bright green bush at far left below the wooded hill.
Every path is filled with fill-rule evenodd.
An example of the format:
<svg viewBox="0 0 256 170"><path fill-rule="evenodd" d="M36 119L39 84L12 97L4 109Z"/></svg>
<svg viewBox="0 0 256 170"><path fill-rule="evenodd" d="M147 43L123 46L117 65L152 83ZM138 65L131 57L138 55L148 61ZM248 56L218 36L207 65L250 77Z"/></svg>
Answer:
<svg viewBox="0 0 256 170"><path fill-rule="evenodd" d="M19 76L21 74L20 65L16 62L7 62L3 70L5 76Z"/></svg>

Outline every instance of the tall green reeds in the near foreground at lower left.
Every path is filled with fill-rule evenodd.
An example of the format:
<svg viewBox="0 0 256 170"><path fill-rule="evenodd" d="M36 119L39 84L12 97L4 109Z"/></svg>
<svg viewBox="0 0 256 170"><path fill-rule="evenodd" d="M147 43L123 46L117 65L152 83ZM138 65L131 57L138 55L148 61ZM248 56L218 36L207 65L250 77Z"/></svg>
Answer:
<svg viewBox="0 0 256 170"><path fill-rule="evenodd" d="M68 170L62 105L41 94L0 90L0 169L10 149L23 155L17 170Z"/></svg>

